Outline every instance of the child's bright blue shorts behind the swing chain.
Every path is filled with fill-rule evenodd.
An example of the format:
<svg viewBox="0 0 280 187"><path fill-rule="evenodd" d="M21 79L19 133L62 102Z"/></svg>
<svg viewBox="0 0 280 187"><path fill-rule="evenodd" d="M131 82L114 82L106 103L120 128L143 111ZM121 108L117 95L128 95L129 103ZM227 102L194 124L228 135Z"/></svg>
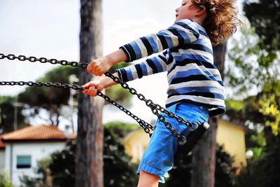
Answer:
<svg viewBox="0 0 280 187"><path fill-rule="evenodd" d="M197 106L195 104L179 103L167 108L168 111L173 111L176 116L190 121L202 124L208 121L209 113L207 107ZM175 118L170 118L163 113L165 119L172 124L172 127L181 135L188 136L190 130L186 125L179 123ZM159 176L159 181L165 183L165 177L168 177L168 171L172 169L174 164L174 154L178 148L178 138L174 137L170 130L165 127L165 124L157 120L154 127L154 132L148 144L141 162L139 164L137 174L140 170Z"/></svg>

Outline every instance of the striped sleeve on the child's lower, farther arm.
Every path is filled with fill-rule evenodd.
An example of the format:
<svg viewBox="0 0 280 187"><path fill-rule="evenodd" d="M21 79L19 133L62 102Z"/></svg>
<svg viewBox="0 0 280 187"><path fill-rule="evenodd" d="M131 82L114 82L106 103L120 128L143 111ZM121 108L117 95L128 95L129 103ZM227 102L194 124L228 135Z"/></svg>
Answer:
<svg viewBox="0 0 280 187"><path fill-rule="evenodd" d="M117 69L118 77L123 82L127 82L142 78L143 76L167 71L167 57L165 55L167 55L166 51L158 56L148 58L144 62Z"/></svg>

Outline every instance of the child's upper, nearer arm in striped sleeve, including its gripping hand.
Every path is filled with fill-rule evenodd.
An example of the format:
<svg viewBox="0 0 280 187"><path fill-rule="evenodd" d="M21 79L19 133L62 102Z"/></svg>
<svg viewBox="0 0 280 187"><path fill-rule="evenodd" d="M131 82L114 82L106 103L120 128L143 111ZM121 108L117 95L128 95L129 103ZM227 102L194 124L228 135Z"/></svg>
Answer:
<svg viewBox="0 0 280 187"><path fill-rule="evenodd" d="M102 76L111 66L118 62L132 62L153 53L159 53L167 48L184 46L192 43L200 36L199 29L195 22L190 20L179 20L172 27L141 37L136 41L121 46L119 50L100 57L90 62L87 72L96 76Z"/></svg>

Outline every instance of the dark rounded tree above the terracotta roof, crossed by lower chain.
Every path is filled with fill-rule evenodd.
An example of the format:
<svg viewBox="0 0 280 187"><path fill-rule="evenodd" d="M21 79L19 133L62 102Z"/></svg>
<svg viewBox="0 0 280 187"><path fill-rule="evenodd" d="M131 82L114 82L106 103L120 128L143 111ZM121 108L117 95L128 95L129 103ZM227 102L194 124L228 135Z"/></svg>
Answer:
<svg viewBox="0 0 280 187"><path fill-rule="evenodd" d="M74 67L58 67L48 71L37 81L52 83L69 83L70 75L77 75L78 69ZM59 125L59 116L62 116L62 106L68 104L69 90L62 88L29 87L18 95L18 100L29 106L27 117L41 117L39 112L44 109L49 116L42 118L50 125Z"/></svg>

